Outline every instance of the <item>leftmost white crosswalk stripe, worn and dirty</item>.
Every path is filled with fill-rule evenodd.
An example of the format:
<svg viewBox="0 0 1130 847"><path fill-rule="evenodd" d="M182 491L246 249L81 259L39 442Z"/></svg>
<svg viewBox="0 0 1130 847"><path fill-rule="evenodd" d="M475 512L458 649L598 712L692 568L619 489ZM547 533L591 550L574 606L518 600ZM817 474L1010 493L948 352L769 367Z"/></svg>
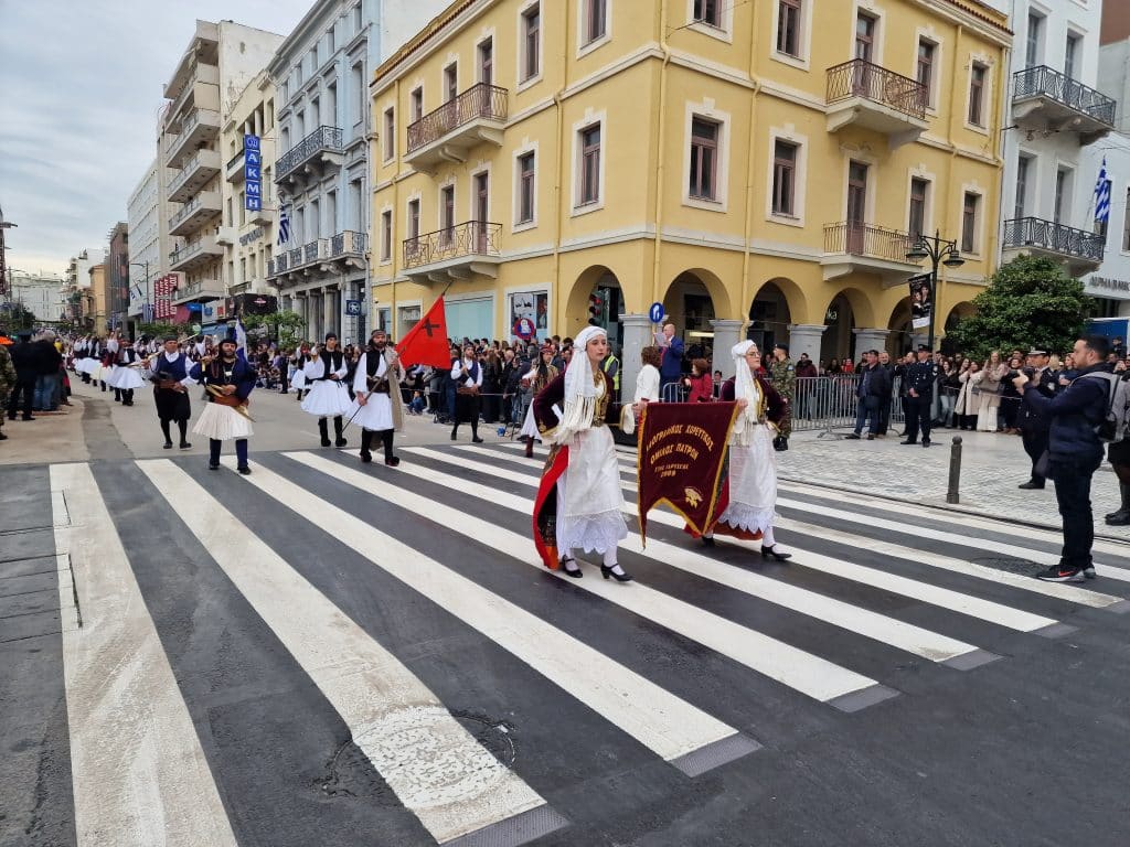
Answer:
<svg viewBox="0 0 1130 847"><path fill-rule="evenodd" d="M55 552L70 557L82 612L62 628L79 847L236 847L89 465L52 465L51 490ZM60 579L62 605L75 586Z"/></svg>

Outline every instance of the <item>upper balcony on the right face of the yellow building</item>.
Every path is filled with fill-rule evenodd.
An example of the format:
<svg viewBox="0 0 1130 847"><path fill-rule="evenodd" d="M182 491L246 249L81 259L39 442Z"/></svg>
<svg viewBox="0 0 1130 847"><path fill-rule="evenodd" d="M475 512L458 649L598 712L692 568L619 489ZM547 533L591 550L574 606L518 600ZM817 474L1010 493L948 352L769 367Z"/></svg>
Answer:
<svg viewBox="0 0 1130 847"><path fill-rule="evenodd" d="M890 147L914 141L929 125L928 96L916 79L853 59L828 68L827 130L863 126L887 136Z"/></svg>

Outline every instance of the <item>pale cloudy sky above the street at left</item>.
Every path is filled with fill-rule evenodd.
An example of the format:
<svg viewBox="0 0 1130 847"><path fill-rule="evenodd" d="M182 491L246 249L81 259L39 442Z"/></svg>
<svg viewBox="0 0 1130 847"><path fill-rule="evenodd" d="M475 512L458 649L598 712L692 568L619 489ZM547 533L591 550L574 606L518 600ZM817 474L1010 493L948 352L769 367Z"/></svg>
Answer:
<svg viewBox="0 0 1130 847"><path fill-rule="evenodd" d="M103 247L156 154L162 86L197 18L287 34L313 0L0 0L8 264L63 273Z"/></svg>

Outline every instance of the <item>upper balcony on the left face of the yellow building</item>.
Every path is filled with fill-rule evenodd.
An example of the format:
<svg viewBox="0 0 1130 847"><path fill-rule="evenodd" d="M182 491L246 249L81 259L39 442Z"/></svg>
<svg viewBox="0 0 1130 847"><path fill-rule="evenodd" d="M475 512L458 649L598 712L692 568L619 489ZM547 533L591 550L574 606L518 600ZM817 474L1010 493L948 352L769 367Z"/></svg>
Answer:
<svg viewBox="0 0 1130 847"><path fill-rule="evenodd" d="M467 152L484 141L502 145L510 93L479 82L418 121L408 124L405 160L424 171L441 161L466 161Z"/></svg>

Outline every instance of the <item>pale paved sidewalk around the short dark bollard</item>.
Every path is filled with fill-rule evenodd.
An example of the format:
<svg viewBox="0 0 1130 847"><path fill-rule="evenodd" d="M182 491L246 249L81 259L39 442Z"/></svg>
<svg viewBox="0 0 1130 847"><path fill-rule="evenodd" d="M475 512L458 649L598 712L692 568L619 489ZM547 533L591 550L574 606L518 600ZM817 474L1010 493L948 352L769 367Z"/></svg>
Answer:
<svg viewBox="0 0 1130 847"><path fill-rule="evenodd" d="M820 437L819 433L793 433L789 449L777 453L777 472L782 480L904 500L909 512L913 504L923 504L1060 526L1054 483L1049 482L1042 491L1017 488L1028 480L1032 466L1019 436L936 429L931 433L933 444L923 449L899 444L902 439L895 431L873 442L866 437L855 442ZM962 438L960 501L949 505L946 490L955 436ZM1103 521L1103 515L1119 505L1118 480L1107 463L1095 473L1090 501L1096 534L1130 542L1130 526L1107 526Z"/></svg>

